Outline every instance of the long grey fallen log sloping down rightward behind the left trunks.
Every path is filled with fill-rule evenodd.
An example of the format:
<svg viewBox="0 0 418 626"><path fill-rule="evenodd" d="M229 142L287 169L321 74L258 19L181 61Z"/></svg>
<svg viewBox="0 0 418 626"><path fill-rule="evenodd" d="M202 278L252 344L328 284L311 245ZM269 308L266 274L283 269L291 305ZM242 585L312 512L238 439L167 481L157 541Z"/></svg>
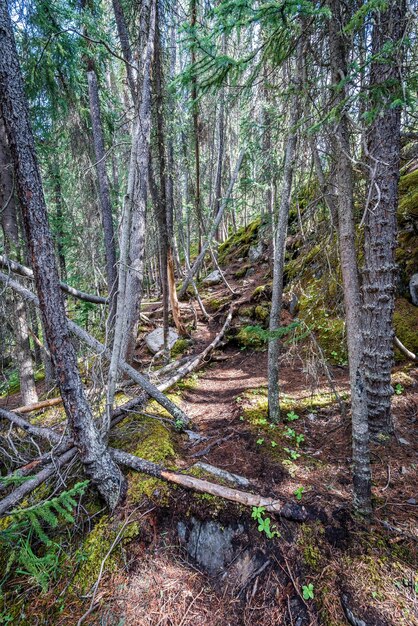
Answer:
<svg viewBox="0 0 418 626"><path fill-rule="evenodd" d="M23 287L19 282L11 279L9 276L0 272L0 281L3 282L8 287L11 287L14 291L19 293L25 300L29 302L33 302L35 306L39 307L39 300L26 287ZM70 331L79 339L81 339L84 343L86 343L96 354L103 355L105 358L110 360L112 358L111 351L106 348L100 341L95 339L92 335L90 335L87 331L80 326L77 326L73 321L68 320L68 326ZM155 385L153 385L145 376L137 372L133 367L128 365L122 359L118 361L118 368L120 371L127 374L134 382L136 382L144 391L147 392L158 404L160 404L170 415L174 417L174 419L181 426L187 426L189 424L189 418L177 405L174 404L169 398L167 398L162 391L160 391Z"/></svg>

